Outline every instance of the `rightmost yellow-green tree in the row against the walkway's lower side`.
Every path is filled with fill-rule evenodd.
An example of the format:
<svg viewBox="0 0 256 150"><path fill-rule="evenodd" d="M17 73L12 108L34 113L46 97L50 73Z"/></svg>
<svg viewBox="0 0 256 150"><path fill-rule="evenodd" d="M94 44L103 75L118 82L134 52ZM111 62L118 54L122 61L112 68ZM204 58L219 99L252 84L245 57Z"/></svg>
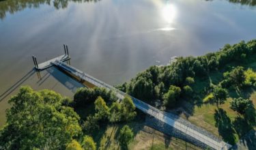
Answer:
<svg viewBox="0 0 256 150"><path fill-rule="evenodd" d="M121 110L122 110L122 120L123 121L131 121L136 116L135 105L132 102L130 97L124 97L124 100L121 102Z"/></svg>

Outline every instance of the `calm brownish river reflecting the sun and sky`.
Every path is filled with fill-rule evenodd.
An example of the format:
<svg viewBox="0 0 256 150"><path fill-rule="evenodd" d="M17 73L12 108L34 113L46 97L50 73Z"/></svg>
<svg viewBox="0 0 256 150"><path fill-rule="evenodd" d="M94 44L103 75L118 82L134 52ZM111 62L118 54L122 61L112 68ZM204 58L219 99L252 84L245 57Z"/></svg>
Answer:
<svg viewBox="0 0 256 150"><path fill-rule="evenodd" d="M18 87L53 89L72 97L78 87L38 62L63 55L71 65L111 85L128 81L170 57L203 55L256 37L256 1L0 0L0 125Z"/></svg>

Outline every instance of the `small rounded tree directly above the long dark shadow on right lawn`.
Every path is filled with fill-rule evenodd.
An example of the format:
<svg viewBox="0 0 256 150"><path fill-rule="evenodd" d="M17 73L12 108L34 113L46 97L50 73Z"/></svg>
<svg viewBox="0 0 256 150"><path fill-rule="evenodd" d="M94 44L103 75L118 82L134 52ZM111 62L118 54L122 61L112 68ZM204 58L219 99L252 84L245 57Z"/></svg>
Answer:
<svg viewBox="0 0 256 150"><path fill-rule="evenodd" d="M215 97L215 102L218 107L218 104L224 104L225 100L227 99L227 90L221 87L215 87L213 95Z"/></svg>

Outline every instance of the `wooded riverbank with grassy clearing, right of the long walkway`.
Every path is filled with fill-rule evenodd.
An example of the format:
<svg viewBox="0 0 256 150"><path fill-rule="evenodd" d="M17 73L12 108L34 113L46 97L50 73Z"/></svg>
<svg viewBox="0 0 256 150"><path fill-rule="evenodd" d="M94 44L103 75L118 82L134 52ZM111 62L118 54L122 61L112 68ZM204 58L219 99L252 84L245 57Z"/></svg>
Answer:
<svg viewBox="0 0 256 150"><path fill-rule="evenodd" d="M256 40L226 44L217 52L152 66L117 89L174 112L233 145L255 129L255 56Z"/></svg>

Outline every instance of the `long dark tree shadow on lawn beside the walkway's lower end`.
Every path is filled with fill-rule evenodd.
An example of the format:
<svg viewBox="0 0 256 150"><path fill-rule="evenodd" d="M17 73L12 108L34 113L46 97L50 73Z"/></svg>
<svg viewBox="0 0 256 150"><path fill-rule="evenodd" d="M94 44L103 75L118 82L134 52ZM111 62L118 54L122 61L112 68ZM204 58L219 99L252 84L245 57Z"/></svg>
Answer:
<svg viewBox="0 0 256 150"><path fill-rule="evenodd" d="M218 134L223 137L223 140L231 145L235 144L235 131L233 130L231 120L227 116L227 112L222 108L215 110L214 119L216 121L215 126L218 127Z"/></svg>

